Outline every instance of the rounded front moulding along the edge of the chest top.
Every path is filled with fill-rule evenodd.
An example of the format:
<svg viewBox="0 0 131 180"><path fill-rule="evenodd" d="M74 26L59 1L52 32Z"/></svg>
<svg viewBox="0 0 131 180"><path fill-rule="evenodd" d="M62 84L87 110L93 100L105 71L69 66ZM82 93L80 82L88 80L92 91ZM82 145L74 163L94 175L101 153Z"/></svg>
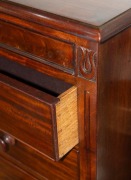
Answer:
<svg viewBox="0 0 131 180"><path fill-rule="evenodd" d="M99 41L100 36L99 36L99 31L97 29L86 27L81 23L78 25L78 22L75 22L71 19L67 19L44 11L41 12L36 9L33 10L28 7L23 8L22 6L18 6L18 5L15 6L14 3L13 5L12 3L8 5L5 2L0 2L0 5L1 5L0 8L1 12L13 16L17 16L20 19L26 19L26 20L28 19L29 21L35 22L37 24L46 25L51 28L55 27L56 29L59 29L61 31L64 30L69 34L74 34L74 35L78 34L82 37L88 37L92 40ZM8 7L10 7L9 11L8 11ZM23 13L24 15L22 15L21 13Z"/></svg>

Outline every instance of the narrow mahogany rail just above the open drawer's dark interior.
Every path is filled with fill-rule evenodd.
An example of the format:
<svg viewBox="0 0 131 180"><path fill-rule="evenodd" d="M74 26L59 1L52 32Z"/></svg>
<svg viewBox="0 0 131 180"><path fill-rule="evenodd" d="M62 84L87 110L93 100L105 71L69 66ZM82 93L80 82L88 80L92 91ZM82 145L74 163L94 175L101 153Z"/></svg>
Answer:
<svg viewBox="0 0 131 180"><path fill-rule="evenodd" d="M71 74L68 74L67 72L63 72L63 70L58 70L57 68L54 68L54 67L50 66L49 64L41 63L37 60L34 60L33 58L29 58L22 54L12 52L11 50L8 49L8 47L6 49L3 47L0 47L0 56L1 56L1 59L0 59L1 61L3 61L3 58L4 58L4 59L7 59L8 61L11 61L10 62L11 64L12 64L12 62L16 62L17 65L20 64L20 65L23 65L25 68L27 67L29 69L36 70L36 72L44 73L44 75L47 75L48 77L51 77L51 78L54 77L55 79L59 79L60 81L62 80L62 81L64 81L64 83L67 82L69 84L74 85L76 82L76 77L72 76ZM10 63L8 62L7 64L10 64ZM1 62L1 64L3 64L3 63ZM4 62L4 64L5 64L5 62ZM4 68L4 66L2 67L2 69L3 68ZM5 66L5 68L8 68L8 66ZM10 72L10 70L11 70L11 68L8 69L9 72ZM12 70L13 70L13 72L10 72L10 73L15 75L16 69L14 68ZM20 73L19 73L19 76L20 76ZM37 76L39 76L39 75L37 74ZM32 75L31 75L31 77L32 77ZM26 78L29 78L28 73L26 74ZM29 78L29 79L31 80L31 78ZM41 81L40 79L41 78L39 77L39 81L37 79L36 82L38 84L40 83L39 86L42 86L43 80ZM33 78L33 81L35 81L35 78ZM44 85L46 85L48 87L48 83L46 83ZM57 86L52 86L52 88L53 87L55 87L54 89L59 92L59 90L62 87L64 87L64 84L62 84L62 87L60 89ZM49 89L49 87L48 87L48 89Z"/></svg>

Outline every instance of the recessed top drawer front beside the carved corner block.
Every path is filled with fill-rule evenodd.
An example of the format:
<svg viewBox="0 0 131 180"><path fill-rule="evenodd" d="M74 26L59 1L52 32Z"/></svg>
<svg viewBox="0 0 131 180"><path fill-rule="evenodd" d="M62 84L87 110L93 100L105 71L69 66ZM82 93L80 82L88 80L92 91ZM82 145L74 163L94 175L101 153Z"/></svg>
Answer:
<svg viewBox="0 0 131 180"><path fill-rule="evenodd" d="M43 27L44 28L44 27ZM73 45L0 21L0 43L38 57L56 68L74 69ZM13 49L12 49L13 50ZM51 65L51 64L50 64Z"/></svg>

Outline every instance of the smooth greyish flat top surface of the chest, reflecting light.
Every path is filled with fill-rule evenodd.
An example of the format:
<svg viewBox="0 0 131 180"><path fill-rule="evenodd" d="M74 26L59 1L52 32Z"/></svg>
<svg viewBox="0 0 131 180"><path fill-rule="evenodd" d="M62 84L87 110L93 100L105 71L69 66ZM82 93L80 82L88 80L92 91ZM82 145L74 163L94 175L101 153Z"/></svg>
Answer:
<svg viewBox="0 0 131 180"><path fill-rule="evenodd" d="M131 0L11 0L94 26L101 26L131 8Z"/></svg>

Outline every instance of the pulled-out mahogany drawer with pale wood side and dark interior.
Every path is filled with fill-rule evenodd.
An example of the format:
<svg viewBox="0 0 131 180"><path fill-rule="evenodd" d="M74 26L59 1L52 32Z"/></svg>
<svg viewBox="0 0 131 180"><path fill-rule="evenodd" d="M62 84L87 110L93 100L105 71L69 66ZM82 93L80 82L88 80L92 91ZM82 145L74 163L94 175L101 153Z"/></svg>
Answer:
<svg viewBox="0 0 131 180"><path fill-rule="evenodd" d="M54 160L78 143L77 88L0 59L0 129Z"/></svg>

